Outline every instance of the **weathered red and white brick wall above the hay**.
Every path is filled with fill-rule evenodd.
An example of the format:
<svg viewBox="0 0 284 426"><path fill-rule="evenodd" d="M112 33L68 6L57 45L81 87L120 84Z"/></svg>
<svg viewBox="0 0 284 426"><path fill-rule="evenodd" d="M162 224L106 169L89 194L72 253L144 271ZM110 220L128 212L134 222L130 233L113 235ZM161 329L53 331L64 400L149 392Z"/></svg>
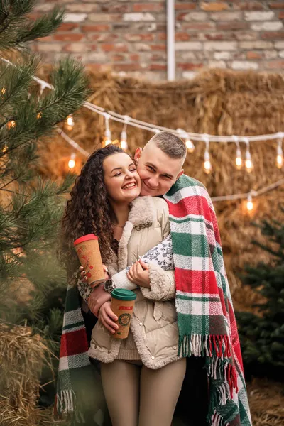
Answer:
<svg viewBox="0 0 284 426"><path fill-rule="evenodd" d="M94 70L166 78L165 0L40 0L65 4L65 23L34 43L45 62L72 54ZM175 1L176 77L206 67L284 70L284 1Z"/></svg>

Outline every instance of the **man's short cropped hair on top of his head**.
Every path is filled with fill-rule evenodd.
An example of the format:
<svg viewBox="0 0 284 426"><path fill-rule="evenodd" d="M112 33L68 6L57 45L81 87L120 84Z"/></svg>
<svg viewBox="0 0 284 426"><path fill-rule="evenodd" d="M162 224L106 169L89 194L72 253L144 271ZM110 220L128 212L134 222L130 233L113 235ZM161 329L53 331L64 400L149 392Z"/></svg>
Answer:
<svg viewBox="0 0 284 426"><path fill-rule="evenodd" d="M182 158L185 160L187 155L185 143L178 136L173 135L173 133L168 131L156 133L149 142L155 142L156 146L170 158Z"/></svg>

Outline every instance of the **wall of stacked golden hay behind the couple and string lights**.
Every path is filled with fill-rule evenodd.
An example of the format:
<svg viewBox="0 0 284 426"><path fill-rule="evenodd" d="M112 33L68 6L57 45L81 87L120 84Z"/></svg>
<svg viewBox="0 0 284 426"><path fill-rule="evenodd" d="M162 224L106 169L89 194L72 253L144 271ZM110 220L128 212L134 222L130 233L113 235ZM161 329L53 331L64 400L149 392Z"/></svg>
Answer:
<svg viewBox="0 0 284 426"><path fill-rule="evenodd" d="M41 70L48 80L49 69ZM208 70L194 80L152 83L132 77L116 77L107 72L89 74L93 94L90 101L105 109L160 126L212 134L253 135L274 133L284 129L284 77L261 72L234 72ZM112 138L120 137L121 124L110 121ZM82 108L75 117L75 127L67 131L71 138L87 151L101 146L104 119ZM129 152L144 146L153 133L128 126ZM206 185L211 196L231 195L258 190L283 177L275 168L276 142L251 143L254 170L251 174L234 168L236 146L234 143L210 143L213 173L202 170L204 143L195 143L195 152L187 155L185 173ZM244 154L244 144L241 144ZM39 172L60 178L67 172L67 162L72 148L60 137L54 136L40 149ZM77 154L77 173L84 158ZM80 163L81 160L81 163ZM251 245L259 231L251 220L263 217L280 219L278 202L283 199L284 188L263 195L253 217L244 214L244 202L217 202L217 212L222 246L229 275L231 293L237 307L251 310L258 297L249 288L244 289L236 272L246 262L256 265L267 260L267 253Z"/></svg>

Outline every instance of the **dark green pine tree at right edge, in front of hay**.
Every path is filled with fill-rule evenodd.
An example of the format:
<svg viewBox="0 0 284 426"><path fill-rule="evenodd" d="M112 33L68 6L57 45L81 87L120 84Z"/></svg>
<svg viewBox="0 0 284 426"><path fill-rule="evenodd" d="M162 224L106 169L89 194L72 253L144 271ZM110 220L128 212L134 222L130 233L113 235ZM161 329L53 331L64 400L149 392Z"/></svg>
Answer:
<svg viewBox="0 0 284 426"><path fill-rule="evenodd" d="M258 315L238 312L236 317L246 372L280 380L284 378L284 224L271 219L256 226L267 244L253 244L269 253L271 260L246 267L242 279L263 302L255 305Z"/></svg>

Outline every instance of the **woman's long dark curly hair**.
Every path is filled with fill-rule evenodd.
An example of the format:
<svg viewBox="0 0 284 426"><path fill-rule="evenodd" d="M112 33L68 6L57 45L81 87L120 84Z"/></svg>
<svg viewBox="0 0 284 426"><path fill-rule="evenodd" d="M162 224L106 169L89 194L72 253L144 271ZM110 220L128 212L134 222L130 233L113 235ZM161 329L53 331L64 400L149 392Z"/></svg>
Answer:
<svg viewBox="0 0 284 426"><path fill-rule="evenodd" d="M94 151L76 178L67 201L62 219L61 244L59 258L67 268L69 280L77 277L79 261L73 247L75 239L86 234L99 237L99 249L105 263L111 256L113 230L111 226L111 206L104 185L104 160L124 151L114 145L108 145ZM74 282L75 283L75 282Z"/></svg>

